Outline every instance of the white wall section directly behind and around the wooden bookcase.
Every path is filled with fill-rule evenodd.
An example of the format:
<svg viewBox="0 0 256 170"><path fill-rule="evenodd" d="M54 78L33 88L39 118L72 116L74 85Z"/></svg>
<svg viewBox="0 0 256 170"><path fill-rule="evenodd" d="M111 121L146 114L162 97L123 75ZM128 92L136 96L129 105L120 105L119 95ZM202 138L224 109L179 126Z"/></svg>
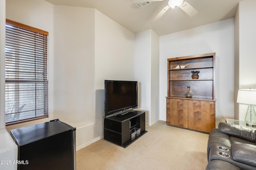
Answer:
<svg viewBox="0 0 256 170"><path fill-rule="evenodd" d="M166 121L167 59L216 53L216 125L234 118L234 18L160 37L160 119Z"/></svg>

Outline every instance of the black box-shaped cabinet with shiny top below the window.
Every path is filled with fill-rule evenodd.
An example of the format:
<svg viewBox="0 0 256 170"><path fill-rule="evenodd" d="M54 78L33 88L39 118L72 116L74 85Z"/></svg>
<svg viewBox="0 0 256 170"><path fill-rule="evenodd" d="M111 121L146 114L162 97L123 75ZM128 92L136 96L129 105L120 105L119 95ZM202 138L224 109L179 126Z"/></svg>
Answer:
<svg viewBox="0 0 256 170"><path fill-rule="evenodd" d="M10 131L18 170L75 170L76 128L58 119Z"/></svg>

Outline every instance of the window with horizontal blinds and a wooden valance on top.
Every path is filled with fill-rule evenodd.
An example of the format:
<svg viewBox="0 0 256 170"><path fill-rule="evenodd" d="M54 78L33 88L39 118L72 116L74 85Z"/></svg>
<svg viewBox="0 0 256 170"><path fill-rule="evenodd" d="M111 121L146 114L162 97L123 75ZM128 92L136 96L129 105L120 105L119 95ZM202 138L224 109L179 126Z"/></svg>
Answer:
<svg viewBox="0 0 256 170"><path fill-rule="evenodd" d="M6 125L48 117L48 32L6 19Z"/></svg>

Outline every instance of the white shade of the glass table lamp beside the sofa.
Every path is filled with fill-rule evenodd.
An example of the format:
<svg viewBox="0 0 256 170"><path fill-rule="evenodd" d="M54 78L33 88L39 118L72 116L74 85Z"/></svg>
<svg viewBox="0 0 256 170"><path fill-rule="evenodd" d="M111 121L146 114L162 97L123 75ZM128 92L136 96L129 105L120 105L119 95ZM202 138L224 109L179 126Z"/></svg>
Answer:
<svg viewBox="0 0 256 170"><path fill-rule="evenodd" d="M256 89L239 89L237 103L256 105Z"/></svg>

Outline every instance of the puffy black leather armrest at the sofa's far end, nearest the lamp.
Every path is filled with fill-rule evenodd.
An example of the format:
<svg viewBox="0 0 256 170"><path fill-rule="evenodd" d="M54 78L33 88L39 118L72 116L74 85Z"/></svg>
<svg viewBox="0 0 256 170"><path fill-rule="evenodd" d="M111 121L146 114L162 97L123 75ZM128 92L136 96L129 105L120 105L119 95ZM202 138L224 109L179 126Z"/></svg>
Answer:
<svg viewBox="0 0 256 170"><path fill-rule="evenodd" d="M249 127L241 127L230 123L220 122L218 130L232 137L238 137L250 142L256 142L256 131Z"/></svg>

